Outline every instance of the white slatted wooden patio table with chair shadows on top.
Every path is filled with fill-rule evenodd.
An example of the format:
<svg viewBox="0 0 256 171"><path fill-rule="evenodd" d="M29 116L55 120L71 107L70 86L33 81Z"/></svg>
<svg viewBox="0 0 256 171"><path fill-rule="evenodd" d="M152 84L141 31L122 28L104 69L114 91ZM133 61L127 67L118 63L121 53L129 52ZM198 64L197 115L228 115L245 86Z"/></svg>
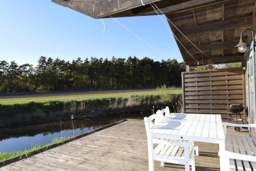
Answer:
<svg viewBox="0 0 256 171"><path fill-rule="evenodd" d="M147 134L151 137L149 138L148 149L153 149L153 138L160 137L217 143L219 144L219 151L225 150L225 134L221 115L172 113L152 126ZM152 150L148 150L148 152L148 163L150 168L154 168ZM220 158L221 171L228 170L226 163L229 163L229 160Z"/></svg>

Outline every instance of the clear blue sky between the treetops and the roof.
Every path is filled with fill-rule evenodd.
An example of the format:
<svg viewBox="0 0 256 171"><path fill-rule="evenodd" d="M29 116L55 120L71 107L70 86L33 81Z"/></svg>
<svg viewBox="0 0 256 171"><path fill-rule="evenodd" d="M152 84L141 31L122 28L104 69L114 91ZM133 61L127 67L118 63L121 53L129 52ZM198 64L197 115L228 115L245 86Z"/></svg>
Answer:
<svg viewBox="0 0 256 171"><path fill-rule="evenodd" d="M173 35L158 16L117 18L119 22L164 54L151 49L112 18L94 19L50 0L11 0L0 7L0 60L36 65L41 56L72 60L78 57L182 61Z"/></svg>

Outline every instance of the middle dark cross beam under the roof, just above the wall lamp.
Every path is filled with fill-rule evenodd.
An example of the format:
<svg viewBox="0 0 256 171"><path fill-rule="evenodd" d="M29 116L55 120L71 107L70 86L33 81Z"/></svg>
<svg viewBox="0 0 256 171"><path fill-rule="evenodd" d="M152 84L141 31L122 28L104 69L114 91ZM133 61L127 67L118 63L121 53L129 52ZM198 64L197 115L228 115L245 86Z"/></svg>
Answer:
<svg viewBox="0 0 256 171"><path fill-rule="evenodd" d="M183 27L182 32L185 35L196 35L204 34L208 32L235 29L240 27L251 27L252 16L246 16L242 18L222 20L221 22L210 23L206 25L197 25L194 27ZM176 35L182 35L180 32L176 31Z"/></svg>

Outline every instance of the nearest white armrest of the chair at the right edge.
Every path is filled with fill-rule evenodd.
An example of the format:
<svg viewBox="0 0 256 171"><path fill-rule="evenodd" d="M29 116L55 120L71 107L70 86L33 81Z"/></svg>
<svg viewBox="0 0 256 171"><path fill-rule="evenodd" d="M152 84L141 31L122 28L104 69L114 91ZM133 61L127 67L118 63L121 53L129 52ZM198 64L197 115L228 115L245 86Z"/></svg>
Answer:
<svg viewBox="0 0 256 171"><path fill-rule="evenodd" d="M256 156L247 156L247 155L242 155L239 153L234 153L234 152L229 152L229 151L219 152L219 156L224 157L224 158L229 158L229 159L237 159L237 160L256 162Z"/></svg>

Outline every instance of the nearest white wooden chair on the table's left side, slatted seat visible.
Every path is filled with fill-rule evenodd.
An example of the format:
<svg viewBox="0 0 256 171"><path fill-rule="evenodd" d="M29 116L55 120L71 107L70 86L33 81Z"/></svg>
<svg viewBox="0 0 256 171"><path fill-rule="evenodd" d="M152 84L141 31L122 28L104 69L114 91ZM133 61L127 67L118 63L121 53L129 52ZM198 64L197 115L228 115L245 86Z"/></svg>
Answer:
<svg viewBox="0 0 256 171"><path fill-rule="evenodd" d="M162 112L158 111L157 114L144 118L147 143L149 143L149 170L154 171L154 161L156 160L161 161L161 166L164 166L164 162L185 165L185 171L188 171L191 165L192 170L195 171L195 149L193 143L182 140L159 139L151 137L151 134L148 133L154 123L158 122L158 119L162 117L160 114ZM153 120L155 120L154 123ZM154 144L157 144L155 148L153 148Z"/></svg>

